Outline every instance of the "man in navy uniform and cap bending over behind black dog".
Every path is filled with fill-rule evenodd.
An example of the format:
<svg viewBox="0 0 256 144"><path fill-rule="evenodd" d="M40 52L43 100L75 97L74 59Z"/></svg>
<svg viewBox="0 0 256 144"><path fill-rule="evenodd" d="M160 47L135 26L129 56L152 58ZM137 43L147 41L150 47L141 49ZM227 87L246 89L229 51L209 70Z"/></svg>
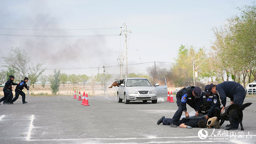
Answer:
<svg viewBox="0 0 256 144"><path fill-rule="evenodd" d="M227 97L230 98L230 104L243 104L244 98L246 96L246 91L241 84L237 82L227 81L222 82L218 85L210 84L210 88L211 87L211 92L220 96L221 103L223 104L221 112L223 112L226 107ZM238 126L239 122L238 120L235 120L234 129L238 129Z"/></svg>

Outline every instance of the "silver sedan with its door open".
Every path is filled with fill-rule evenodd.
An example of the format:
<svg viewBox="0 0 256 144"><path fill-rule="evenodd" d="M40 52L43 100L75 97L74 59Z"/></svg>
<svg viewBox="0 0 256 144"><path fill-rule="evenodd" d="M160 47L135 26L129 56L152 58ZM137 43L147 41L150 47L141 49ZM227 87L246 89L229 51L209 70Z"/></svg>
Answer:
<svg viewBox="0 0 256 144"><path fill-rule="evenodd" d="M159 82L159 83L157 83ZM146 78L125 78L123 84L118 87L117 101L125 104L130 101L152 101L157 103L157 97L167 96L166 79L158 79L154 86Z"/></svg>

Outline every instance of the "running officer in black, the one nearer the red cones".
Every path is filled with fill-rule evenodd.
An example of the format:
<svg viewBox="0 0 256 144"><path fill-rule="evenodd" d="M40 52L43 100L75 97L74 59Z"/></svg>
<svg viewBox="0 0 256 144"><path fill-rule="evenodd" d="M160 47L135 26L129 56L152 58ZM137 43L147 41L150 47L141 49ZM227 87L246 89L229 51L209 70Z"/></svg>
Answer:
<svg viewBox="0 0 256 144"><path fill-rule="evenodd" d="M28 90L29 87L27 86L26 82L28 82L28 78L25 77L24 81L21 81L20 84L18 84L15 88L15 98L13 98L13 100L10 102L10 104L13 104L14 101L16 101L19 98L19 95L22 96L22 104L26 104L28 102L25 101L25 93L22 91L24 89L24 87Z"/></svg>

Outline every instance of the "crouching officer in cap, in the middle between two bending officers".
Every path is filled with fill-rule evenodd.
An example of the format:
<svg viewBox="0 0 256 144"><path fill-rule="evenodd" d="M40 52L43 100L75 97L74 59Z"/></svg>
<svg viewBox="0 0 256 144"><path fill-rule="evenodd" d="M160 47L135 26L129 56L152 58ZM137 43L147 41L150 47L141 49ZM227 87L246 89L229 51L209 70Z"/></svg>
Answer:
<svg viewBox="0 0 256 144"><path fill-rule="evenodd" d="M201 113L206 115L205 119L212 118L215 116L216 112L220 109L220 101L218 94L211 93L212 87L210 84L205 86L205 91L201 95Z"/></svg>

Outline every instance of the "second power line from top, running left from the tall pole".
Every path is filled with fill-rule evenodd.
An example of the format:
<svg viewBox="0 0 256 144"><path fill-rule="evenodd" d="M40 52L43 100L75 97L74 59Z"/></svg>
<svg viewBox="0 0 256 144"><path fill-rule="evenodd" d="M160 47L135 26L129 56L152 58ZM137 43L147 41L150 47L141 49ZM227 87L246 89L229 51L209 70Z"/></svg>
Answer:
<svg viewBox="0 0 256 144"><path fill-rule="evenodd" d="M0 34L5 36L19 36L19 37L106 37L106 36L119 36L119 34L107 34L107 35L9 35Z"/></svg>

